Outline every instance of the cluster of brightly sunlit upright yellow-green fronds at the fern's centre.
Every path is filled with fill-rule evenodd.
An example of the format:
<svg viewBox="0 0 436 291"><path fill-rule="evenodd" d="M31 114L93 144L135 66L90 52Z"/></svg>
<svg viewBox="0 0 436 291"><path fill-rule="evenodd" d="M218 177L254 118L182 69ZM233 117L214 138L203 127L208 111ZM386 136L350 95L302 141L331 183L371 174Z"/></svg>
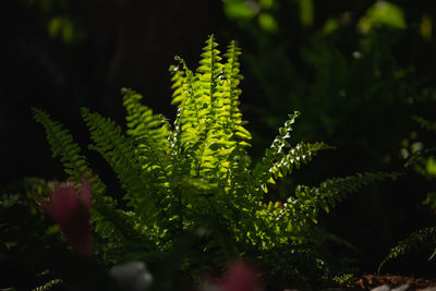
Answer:
<svg viewBox="0 0 436 291"><path fill-rule="evenodd" d="M191 157L189 174L229 184L232 171L246 169L243 147L250 145L251 135L242 125L238 108L240 50L232 43L223 65L217 46L210 36L195 74L177 57L183 72L174 66L171 70L173 102L178 104L172 145Z"/></svg>

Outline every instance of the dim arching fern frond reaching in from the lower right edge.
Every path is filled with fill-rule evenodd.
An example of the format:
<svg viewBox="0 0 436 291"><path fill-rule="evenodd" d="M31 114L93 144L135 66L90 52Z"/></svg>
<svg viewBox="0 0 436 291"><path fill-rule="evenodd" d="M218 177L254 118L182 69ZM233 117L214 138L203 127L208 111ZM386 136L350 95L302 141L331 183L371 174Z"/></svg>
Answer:
<svg viewBox="0 0 436 291"><path fill-rule="evenodd" d="M390 248L389 254L385 257L385 259L380 263L378 266L378 274L380 272L383 266L386 265L391 259L395 259L399 256L405 255L410 253L413 250L421 251L422 246L431 246L435 247L436 245L436 228L431 227L431 228L425 228L425 229L420 229L414 232L412 232L409 238L398 242L396 246ZM425 248L426 250L426 248ZM428 260L431 260L436 254L436 247L433 251L433 254L428 257Z"/></svg>

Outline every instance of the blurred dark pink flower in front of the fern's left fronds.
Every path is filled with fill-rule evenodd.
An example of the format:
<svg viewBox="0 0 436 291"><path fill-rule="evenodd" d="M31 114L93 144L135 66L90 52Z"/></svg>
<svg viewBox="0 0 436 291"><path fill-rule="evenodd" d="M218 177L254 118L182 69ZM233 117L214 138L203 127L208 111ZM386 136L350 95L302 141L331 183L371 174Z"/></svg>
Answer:
<svg viewBox="0 0 436 291"><path fill-rule="evenodd" d="M90 184L82 178L82 193L73 184L58 184L50 193L51 201L44 202L47 214L60 226L73 250L83 256L92 255L89 230Z"/></svg>

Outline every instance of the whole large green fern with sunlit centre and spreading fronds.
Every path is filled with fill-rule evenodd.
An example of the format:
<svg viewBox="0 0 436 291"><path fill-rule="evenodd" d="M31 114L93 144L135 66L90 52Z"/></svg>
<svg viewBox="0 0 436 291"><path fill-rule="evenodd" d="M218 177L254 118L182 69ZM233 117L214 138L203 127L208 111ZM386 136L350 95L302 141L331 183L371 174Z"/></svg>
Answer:
<svg viewBox="0 0 436 291"><path fill-rule="evenodd" d="M210 36L196 71L175 58L179 64L170 68L171 102L178 107L173 124L154 114L141 102L142 96L131 89L122 90L126 134L112 120L82 109L93 141L89 148L113 169L130 210L119 209L106 194L71 134L45 111L34 109L53 155L61 158L71 179L78 181L83 174L92 178L95 227L97 232L106 229L99 234L102 239L117 242L114 247L107 248L102 243L97 248L113 262L129 251L166 252L181 235L198 230L204 234L197 247L214 254L214 265L253 252L262 256L265 251L302 247L310 244L319 209L328 211L347 193L388 178L364 173L330 179L318 187L298 186L284 204L265 203L268 184L291 174L329 146L291 145L292 124L299 116L294 112L263 159L252 167L247 155L251 134L239 109L241 51L235 41L230 43L222 61L217 48ZM124 239L111 238L118 235L114 233L122 233ZM116 250L122 248L124 252L118 254Z"/></svg>

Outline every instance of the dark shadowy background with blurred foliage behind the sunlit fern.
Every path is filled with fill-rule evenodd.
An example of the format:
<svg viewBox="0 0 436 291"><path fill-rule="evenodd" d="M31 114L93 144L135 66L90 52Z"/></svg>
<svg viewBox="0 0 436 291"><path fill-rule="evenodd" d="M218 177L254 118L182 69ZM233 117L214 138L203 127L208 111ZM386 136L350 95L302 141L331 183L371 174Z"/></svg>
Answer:
<svg viewBox="0 0 436 291"><path fill-rule="evenodd" d="M435 120L434 7L423 0L3 1L0 185L23 177L65 179L32 119L31 108L40 107L73 133L120 195L110 169L86 150L78 109L122 124L120 89L131 87L172 119L168 68L181 56L195 69L214 33L221 51L231 39L243 50L241 101L254 161L293 110L302 112L294 142L336 147L272 189L271 199L286 198L298 183L363 171L404 173L351 196L320 221L356 246L362 270L374 271L398 240L435 225L432 209L422 206L434 177L404 168L404 153L436 144L411 118ZM432 275L426 255L392 270Z"/></svg>

